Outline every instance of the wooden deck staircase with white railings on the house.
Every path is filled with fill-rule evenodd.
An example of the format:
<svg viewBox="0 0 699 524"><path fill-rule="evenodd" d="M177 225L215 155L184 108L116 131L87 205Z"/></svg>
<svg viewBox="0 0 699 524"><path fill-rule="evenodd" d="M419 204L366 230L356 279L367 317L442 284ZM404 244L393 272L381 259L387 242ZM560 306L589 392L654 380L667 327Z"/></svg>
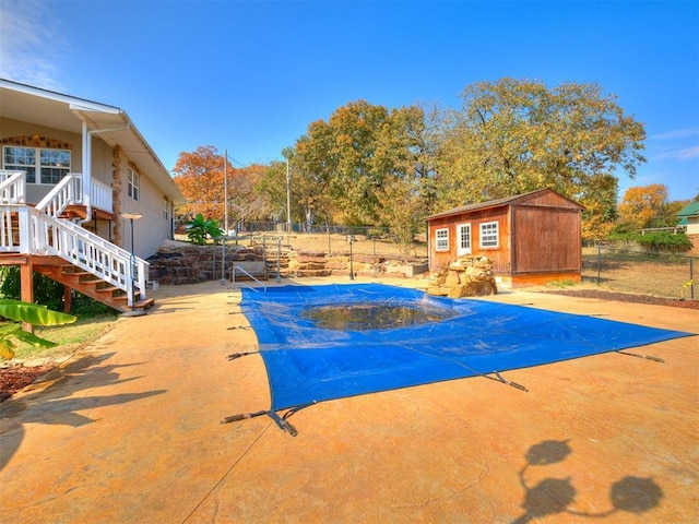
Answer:
<svg viewBox="0 0 699 524"><path fill-rule="evenodd" d="M81 205L80 175L71 174L36 206L24 203L23 171L0 171L0 263L31 263L68 288L128 312L146 298L149 263L66 218Z"/></svg>

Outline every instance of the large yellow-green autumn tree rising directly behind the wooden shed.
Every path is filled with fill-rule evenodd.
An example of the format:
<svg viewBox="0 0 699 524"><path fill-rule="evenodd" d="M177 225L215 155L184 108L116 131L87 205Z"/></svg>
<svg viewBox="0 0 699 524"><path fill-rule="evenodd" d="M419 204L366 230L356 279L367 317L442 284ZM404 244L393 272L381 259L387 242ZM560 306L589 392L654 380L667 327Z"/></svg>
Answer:
<svg viewBox="0 0 699 524"><path fill-rule="evenodd" d="M601 177L620 168L632 178L645 160L643 126L596 84L477 82L443 126L436 190L445 206L542 188L592 200L591 190L608 186Z"/></svg>

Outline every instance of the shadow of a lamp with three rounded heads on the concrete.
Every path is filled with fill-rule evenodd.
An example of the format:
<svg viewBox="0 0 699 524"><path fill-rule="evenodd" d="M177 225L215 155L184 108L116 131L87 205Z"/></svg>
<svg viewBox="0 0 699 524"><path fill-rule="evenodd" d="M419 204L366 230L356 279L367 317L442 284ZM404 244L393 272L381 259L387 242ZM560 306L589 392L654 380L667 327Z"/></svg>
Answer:
<svg viewBox="0 0 699 524"><path fill-rule="evenodd" d="M577 490L571 477L544 478L535 486L526 481L531 467L547 466L566 460L572 452L567 440L545 440L526 452L526 465L520 471L520 485L524 489L522 508L524 514L512 524L525 524L544 516L567 513L576 516L600 519L618 511L641 514L655 508L663 491L652 478L624 477L609 487L611 509L600 513L585 513L570 509L576 501Z"/></svg>

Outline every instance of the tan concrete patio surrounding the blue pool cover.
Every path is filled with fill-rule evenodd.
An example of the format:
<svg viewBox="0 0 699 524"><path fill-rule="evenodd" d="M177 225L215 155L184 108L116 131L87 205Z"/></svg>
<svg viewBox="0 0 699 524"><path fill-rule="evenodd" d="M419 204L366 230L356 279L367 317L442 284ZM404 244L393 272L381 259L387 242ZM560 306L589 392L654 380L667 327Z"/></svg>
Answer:
<svg viewBox="0 0 699 524"><path fill-rule="evenodd" d="M294 438L266 416L220 424L270 406L261 358L226 358L256 348L239 291L154 296L0 405L1 522L699 522L698 336L629 350L663 364L505 373L528 392L471 378L317 404ZM691 309L485 300L699 331Z"/></svg>

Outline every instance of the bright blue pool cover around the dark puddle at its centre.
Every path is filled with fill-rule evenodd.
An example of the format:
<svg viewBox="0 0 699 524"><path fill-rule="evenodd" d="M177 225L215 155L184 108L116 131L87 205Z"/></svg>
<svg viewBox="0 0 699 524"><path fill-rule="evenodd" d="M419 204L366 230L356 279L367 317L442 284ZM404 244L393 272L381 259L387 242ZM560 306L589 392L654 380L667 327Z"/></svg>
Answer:
<svg viewBox="0 0 699 524"><path fill-rule="evenodd" d="M446 310L449 318L371 331L329 330L308 308ZM486 300L431 297L381 284L242 289L270 381L272 409L476 377L652 344L691 333Z"/></svg>

